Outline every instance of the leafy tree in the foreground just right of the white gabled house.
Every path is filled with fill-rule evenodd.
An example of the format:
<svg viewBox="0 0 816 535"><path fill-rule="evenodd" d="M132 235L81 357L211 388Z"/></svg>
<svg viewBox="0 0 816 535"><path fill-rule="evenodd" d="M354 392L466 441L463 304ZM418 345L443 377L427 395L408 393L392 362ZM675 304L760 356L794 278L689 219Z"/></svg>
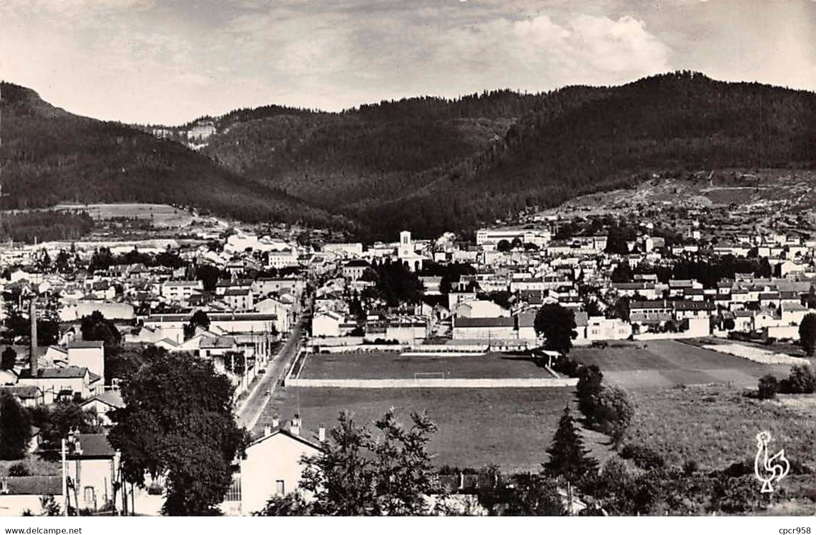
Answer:
<svg viewBox="0 0 816 535"><path fill-rule="evenodd" d="M436 426L411 413L401 426L393 410L375 422L379 437L348 412L330 430L322 453L304 457L301 487L314 493L316 515L422 515L424 497L437 492L428 440Z"/></svg>

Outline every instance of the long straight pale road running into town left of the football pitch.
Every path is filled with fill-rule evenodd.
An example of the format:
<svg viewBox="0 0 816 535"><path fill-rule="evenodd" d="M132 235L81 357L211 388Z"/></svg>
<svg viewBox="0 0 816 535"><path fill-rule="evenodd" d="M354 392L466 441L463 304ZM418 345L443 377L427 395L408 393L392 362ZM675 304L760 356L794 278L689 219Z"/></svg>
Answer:
<svg viewBox="0 0 816 535"><path fill-rule="evenodd" d="M311 308L312 304L310 301L309 304L304 307L303 314L300 314L300 319L298 323L295 324L295 328L292 328L292 331L289 333L289 338L286 340L286 343L267 364L266 373L261 376L260 381L253 387L249 397L242 403L242 406L238 408L235 416L238 426L246 427L250 433L252 432L252 428L255 427L255 423L258 421L261 413L264 412L266 404L273 398L272 395L267 395L267 392L269 390L274 392L280 383L280 378L286 373L292 359L298 354L298 350L300 349L300 335L304 330L308 316L311 314Z"/></svg>

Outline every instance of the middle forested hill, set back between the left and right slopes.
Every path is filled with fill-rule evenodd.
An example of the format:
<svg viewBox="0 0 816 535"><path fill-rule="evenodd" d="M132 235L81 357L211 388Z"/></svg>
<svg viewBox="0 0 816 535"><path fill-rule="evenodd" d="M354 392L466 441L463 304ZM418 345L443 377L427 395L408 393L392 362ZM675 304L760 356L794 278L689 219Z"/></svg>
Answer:
<svg viewBox="0 0 816 535"><path fill-rule="evenodd" d="M491 91L362 105L339 114L265 106L215 119L202 149L233 172L326 209L374 205L417 187L417 175L479 154L540 95Z"/></svg>

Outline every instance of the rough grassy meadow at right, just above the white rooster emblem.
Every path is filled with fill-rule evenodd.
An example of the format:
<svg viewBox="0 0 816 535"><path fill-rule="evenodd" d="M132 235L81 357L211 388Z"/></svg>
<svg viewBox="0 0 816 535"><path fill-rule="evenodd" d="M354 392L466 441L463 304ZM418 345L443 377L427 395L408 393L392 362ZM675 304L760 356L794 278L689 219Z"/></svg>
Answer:
<svg viewBox="0 0 816 535"><path fill-rule="evenodd" d="M632 390L632 439L654 448L673 465L694 459L705 469L753 459L756 434L770 431L775 453L816 469L816 396L780 395L761 401L743 390L705 386Z"/></svg>

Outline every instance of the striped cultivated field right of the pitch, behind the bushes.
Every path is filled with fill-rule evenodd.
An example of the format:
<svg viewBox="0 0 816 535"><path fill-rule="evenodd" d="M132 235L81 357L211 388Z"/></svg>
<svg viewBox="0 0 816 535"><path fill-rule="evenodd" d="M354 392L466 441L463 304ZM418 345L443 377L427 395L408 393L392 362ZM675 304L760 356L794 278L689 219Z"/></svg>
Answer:
<svg viewBox="0 0 816 535"><path fill-rule="evenodd" d="M783 376L790 368L789 365L754 363L673 340L605 349L576 347L570 356L586 364L597 364L607 381L625 388L710 383L756 387L756 380L765 373Z"/></svg>

